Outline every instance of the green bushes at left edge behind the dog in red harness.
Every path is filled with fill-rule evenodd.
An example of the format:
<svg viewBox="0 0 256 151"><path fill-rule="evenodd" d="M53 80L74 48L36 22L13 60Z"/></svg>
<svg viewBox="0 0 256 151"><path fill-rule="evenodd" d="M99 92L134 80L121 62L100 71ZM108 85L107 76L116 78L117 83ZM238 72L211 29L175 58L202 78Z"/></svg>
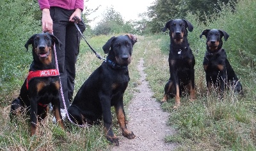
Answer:
<svg viewBox="0 0 256 151"><path fill-rule="evenodd" d="M40 32L40 21L34 19L33 12L39 10L37 1L6 0L0 2L0 91L12 93L12 88L20 86L20 75L28 72L31 54L26 52L26 40ZM24 79L24 78L23 78ZM10 86L10 83L13 83Z"/></svg>

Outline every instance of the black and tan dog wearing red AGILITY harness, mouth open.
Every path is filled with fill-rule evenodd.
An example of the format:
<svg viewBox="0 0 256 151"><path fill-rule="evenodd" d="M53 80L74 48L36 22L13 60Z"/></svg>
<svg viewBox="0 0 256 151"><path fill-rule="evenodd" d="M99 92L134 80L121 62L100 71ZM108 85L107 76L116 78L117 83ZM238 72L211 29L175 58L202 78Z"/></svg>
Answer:
<svg viewBox="0 0 256 151"><path fill-rule="evenodd" d="M49 111L48 104L53 106L54 116L63 128L60 114L60 74L54 60L54 44L59 40L48 33L35 34L29 38L25 47L32 45L33 62L29 74L20 89L19 97L12 102L10 118L22 112L30 113L31 136L36 133L38 120L44 120Z"/></svg>

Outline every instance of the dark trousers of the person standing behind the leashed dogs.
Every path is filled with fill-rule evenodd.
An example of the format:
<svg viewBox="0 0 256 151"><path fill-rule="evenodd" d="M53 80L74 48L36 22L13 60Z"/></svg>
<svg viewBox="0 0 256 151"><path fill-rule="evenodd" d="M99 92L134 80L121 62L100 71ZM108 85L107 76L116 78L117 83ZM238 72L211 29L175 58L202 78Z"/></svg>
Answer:
<svg viewBox="0 0 256 151"><path fill-rule="evenodd" d="M74 22L69 21L69 17L74 11L75 10L65 10L58 7L51 7L50 9L53 21L53 34L62 43L60 49L56 47L56 54L60 70L61 87L67 107L70 106L70 100L74 93L76 61L81 40L81 34L77 31ZM83 21L79 22L77 25L83 33L85 30ZM64 109L61 93L60 108Z"/></svg>

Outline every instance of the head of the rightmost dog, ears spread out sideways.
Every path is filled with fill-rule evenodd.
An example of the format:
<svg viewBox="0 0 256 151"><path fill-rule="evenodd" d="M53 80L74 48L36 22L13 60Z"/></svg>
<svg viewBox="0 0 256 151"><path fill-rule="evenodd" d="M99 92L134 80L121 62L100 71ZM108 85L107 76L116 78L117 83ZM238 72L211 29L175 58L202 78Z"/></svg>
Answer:
<svg viewBox="0 0 256 151"><path fill-rule="evenodd" d="M207 38L206 45L209 51L218 51L221 49L223 44L222 37L224 36L224 40L227 41L229 36L225 31L218 29L205 29L200 35L200 38L203 35Z"/></svg>

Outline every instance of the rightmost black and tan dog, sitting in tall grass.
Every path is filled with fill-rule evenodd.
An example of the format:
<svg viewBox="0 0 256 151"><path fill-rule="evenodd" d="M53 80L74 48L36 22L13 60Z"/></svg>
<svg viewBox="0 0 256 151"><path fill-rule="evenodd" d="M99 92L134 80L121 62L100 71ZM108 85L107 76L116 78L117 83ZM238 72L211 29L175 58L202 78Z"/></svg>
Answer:
<svg viewBox="0 0 256 151"><path fill-rule="evenodd" d="M218 88L221 93L227 85L232 86L234 91L243 95L243 88L237 78L233 68L231 67L225 49L223 49L223 41L228 40L228 34L223 30L205 29L202 36L207 38L204 56L204 70L207 83L207 89L211 90L212 85Z"/></svg>

